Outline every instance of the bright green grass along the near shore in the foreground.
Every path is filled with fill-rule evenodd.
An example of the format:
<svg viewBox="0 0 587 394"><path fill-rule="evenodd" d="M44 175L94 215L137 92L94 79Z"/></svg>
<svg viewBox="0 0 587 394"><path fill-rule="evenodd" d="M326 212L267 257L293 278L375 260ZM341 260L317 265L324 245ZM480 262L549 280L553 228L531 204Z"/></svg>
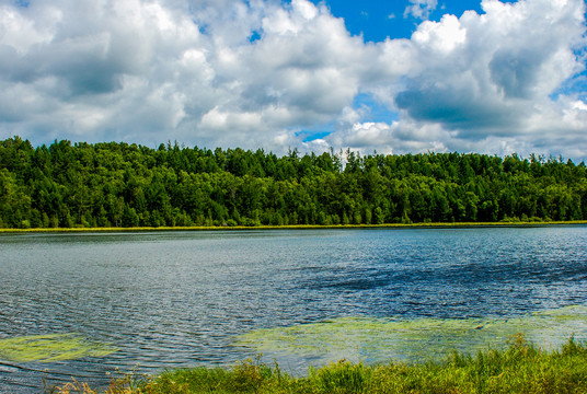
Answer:
<svg viewBox="0 0 587 394"><path fill-rule="evenodd" d="M53 393L97 393L72 382ZM277 364L248 360L231 369L196 368L115 381L107 394L189 393L587 393L587 346L569 339L545 351L515 338L505 350L453 352L442 362L365 366L342 360L290 376Z"/></svg>

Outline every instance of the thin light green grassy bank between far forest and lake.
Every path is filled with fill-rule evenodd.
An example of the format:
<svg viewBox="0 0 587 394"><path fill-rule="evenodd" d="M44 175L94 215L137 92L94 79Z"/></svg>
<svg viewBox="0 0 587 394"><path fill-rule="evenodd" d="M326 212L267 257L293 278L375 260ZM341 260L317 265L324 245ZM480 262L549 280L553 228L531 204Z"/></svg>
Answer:
<svg viewBox="0 0 587 394"><path fill-rule="evenodd" d="M214 231L214 230L303 230L303 229L413 229L413 228L473 228L473 227L542 227L587 224L587 220L575 221L499 221L499 222L427 222L387 224L297 224L297 225L217 225L217 227L134 227L134 228L51 228L51 229L0 229L0 233L56 233L56 232L129 232L129 231Z"/></svg>

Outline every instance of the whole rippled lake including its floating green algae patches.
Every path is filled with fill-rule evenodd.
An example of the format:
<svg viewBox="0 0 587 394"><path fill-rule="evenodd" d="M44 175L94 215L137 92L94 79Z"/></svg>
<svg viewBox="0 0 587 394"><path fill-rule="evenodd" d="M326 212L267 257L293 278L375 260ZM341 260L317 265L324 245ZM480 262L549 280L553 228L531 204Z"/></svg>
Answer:
<svg viewBox="0 0 587 394"><path fill-rule="evenodd" d="M584 340L586 245L585 225L1 234L0 392Z"/></svg>

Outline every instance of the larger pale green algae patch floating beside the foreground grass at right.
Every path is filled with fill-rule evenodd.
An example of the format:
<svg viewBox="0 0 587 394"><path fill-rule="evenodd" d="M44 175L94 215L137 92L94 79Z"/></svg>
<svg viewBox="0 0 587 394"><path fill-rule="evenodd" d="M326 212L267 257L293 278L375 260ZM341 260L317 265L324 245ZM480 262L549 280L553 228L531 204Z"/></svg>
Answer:
<svg viewBox="0 0 587 394"><path fill-rule="evenodd" d="M587 306L574 305L513 318L341 317L289 327L256 329L237 337L234 346L265 356L297 356L320 363L441 359L452 350L475 354L503 347L517 334L545 349L569 337L587 339Z"/></svg>

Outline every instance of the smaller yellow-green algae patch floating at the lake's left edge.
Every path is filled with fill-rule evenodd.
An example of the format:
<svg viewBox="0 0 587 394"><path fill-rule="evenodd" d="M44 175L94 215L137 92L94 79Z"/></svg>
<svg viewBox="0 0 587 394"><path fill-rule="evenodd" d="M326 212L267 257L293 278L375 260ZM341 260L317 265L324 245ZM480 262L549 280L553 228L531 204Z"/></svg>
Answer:
<svg viewBox="0 0 587 394"><path fill-rule="evenodd" d="M14 362L55 362L104 357L117 349L78 334L49 334L0 339L0 359Z"/></svg>

